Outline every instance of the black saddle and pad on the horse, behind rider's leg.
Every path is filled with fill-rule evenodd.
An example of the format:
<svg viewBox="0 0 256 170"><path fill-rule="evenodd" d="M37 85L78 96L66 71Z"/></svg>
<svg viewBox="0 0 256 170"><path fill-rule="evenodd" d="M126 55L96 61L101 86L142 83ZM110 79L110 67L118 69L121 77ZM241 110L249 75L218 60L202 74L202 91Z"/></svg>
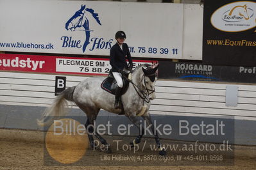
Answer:
<svg viewBox="0 0 256 170"><path fill-rule="evenodd" d="M129 73L122 75L123 89L121 91L121 95L126 93L128 87L129 87L128 76L129 76ZM108 91L108 93L115 95L115 89L117 88L117 82L115 81L112 70L110 70L110 72L108 73L108 77L101 83L101 88L104 89L105 91Z"/></svg>

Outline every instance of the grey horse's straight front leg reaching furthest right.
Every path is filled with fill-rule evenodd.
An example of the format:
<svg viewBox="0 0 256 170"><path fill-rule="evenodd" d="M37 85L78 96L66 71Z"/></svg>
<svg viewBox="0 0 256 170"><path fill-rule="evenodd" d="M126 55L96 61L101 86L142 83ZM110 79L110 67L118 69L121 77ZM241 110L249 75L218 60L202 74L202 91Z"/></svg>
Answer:
<svg viewBox="0 0 256 170"><path fill-rule="evenodd" d="M150 117L149 112L146 112L146 114L144 114L142 116L142 118L144 118L147 125L151 127L151 130L152 130L153 134L155 135L155 142L157 143L157 148L158 148L158 151L159 151L159 155L166 155L166 150L165 150L165 148L162 147L162 144L160 143L160 139L158 137L157 130L155 130L155 127L154 127L154 125L151 121L151 117Z"/></svg>

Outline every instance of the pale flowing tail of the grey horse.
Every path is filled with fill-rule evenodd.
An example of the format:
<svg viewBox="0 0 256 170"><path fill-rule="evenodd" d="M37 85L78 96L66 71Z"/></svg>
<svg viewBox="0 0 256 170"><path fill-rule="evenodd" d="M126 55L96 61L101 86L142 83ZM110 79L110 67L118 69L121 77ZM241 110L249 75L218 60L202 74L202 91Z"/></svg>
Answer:
<svg viewBox="0 0 256 170"><path fill-rule="evenodd" d="M41 127L49 126L54 120L60 118L60 116L65 116L65 107L68 107L67 100L73 102L75 88L76 86L73 86L72 88L67 88L62 91L62 93L55 98L53 104L46 108L42 114L42 118L37 120L37 124Z"/></svg>

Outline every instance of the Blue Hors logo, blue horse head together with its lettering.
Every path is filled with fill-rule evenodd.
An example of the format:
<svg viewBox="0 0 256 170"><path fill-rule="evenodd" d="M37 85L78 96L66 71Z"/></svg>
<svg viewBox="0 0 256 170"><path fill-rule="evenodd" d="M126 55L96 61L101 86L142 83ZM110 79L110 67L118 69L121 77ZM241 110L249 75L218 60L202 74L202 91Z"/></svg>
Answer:
<svg viewBox="0 0 256 170"><path fill-rule="evenodd" d="M65 29L67 29L67 31L84 31L85 41L74 40L72 36L62 36L60 38L60 40L62 40L62 47L82 48L83 52L85 52L90 42L92 42L92 47L89 49L90 51L94 49L110 49L113 41L112 39L105 42L104 38L90 38L90 33L94 31L90 28L90 22L92 20L96 20L96 23L101 26L101 20L99 20L98 13L94 12L91 8L86 8L85 5L81 5L80 10L76 11L74 15L67 20L65 23Z"/></svg>

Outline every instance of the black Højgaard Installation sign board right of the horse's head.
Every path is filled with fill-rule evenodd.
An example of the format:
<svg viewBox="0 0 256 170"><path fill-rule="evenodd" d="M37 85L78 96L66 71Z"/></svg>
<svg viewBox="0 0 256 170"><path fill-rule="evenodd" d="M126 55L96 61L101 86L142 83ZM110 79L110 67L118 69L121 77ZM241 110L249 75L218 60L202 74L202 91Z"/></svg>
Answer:
<svg viewBox="0 0 256 170"><path fill-rule="evenodd" d="M159 79L256 83L256 66L216 66L159 61Z"/></svg>

